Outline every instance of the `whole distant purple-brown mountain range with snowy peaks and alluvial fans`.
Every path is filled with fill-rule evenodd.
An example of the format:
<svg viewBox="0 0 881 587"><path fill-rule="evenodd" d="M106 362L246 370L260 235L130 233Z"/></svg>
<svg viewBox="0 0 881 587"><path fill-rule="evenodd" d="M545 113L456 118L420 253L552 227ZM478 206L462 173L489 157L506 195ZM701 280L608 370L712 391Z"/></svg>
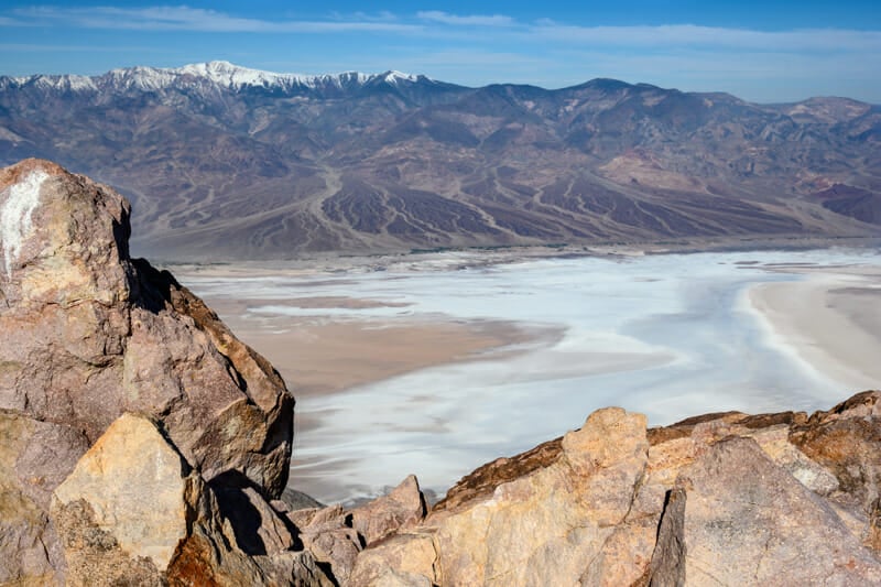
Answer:
<svg viewBox="0 0 881 587"><path fill-rule="evenodd" d="M226 62L0 77L0 165L29 156L117 187L164 259L881 233L881 107L847 98Z"/></svg>

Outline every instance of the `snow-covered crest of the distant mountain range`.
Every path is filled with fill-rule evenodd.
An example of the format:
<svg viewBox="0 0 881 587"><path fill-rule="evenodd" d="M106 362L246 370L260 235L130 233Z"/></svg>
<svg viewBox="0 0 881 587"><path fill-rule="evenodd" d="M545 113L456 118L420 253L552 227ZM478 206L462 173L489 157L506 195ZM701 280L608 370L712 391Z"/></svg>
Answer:
<svg viewBox="0 0 881 587"><path fill-rule="evenodd" d="M315 90L354 89L380 84L391 86L412 84L437 84L423 75L401 72L363 74L346 72L340 74L301 75L279 74L240 67L225 61L196 63L183 67L163 68L135 66L112 69L99 76L79 75L32 75L23 77L0 77L0 88L35 87L62 91L155 91L170 88L192 88L217 86L228 90L260 88L264 90Z"/></svg>

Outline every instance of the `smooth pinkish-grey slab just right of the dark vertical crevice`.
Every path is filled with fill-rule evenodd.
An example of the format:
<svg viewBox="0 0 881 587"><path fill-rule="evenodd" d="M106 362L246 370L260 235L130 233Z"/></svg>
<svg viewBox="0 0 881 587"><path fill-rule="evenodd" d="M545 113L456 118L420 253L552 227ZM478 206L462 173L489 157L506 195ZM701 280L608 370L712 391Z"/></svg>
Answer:
<svg viewBox="0 0 881 587"><path fill-rule="evenodd" d="M683 469L688 584L877 585L881 562L751 438Z"/></svg>

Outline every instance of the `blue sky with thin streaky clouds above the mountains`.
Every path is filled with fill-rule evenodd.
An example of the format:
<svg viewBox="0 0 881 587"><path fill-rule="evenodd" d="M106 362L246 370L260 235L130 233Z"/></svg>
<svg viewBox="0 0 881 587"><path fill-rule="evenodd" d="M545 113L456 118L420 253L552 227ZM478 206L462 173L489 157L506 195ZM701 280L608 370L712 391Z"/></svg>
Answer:
<svg viewBox="0 0 881 587"><path fill-rule="evenodd" d="M881 1L126 2L0 7L0 74L226 59L272 72L398 69L469 86L595 77L755 101L881 104Z"/></svg>

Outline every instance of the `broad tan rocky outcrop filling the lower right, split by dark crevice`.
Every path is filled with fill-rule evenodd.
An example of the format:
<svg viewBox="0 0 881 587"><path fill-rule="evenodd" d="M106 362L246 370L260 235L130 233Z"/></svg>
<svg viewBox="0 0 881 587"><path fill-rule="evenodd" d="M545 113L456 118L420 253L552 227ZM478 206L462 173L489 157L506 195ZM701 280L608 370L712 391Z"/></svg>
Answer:
<svg viewBox="0 0 881 587"><path fill-rule="evenodd" d="M877 585L881 392L645 428L606 409L368 546L350 585Z"/></svg>

